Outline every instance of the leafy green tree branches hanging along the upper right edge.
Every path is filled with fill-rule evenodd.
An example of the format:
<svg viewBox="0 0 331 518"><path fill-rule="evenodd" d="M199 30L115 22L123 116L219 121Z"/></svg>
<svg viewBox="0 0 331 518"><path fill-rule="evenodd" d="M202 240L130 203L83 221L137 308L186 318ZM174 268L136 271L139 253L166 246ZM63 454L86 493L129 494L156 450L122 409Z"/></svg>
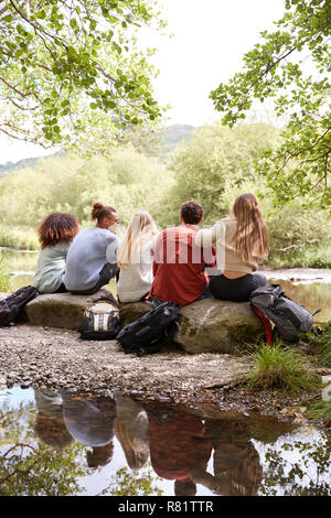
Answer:
<svg viewBox="0 0 331 518"><path fill-rule="evenodd" d="M286 0L275 31L244 56L243 72L211 93L229 126L245 118L254 99L275 98L288 118L282 142L259 160L260 171L281 204L303 196L330 206L330 0Z"/></svg>

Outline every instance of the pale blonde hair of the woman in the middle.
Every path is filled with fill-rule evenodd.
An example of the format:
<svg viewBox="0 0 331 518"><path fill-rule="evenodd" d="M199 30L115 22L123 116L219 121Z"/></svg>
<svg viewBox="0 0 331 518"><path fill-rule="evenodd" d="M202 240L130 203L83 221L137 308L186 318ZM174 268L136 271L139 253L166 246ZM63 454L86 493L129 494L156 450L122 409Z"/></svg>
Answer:
<svg viewBox="0 0 331 518"><path fill-rule="evenodd" d="M145 211L136 213L128 227L128 231L117 249L117 265L126 269L132 258L140 252L143 241L158 235L153 218Z"/></svg>

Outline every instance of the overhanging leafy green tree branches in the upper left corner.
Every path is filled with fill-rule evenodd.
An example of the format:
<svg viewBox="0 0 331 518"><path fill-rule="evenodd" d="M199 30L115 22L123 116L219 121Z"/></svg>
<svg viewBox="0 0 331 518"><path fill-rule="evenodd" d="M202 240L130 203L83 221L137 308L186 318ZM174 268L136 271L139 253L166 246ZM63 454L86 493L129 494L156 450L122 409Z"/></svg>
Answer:
<svg viewBox="0 0 331 518"><path fill-rule="evenodd" d="M156 6L0 0L0 132L49 147L157 120L152 51L137 51L137 28L163 24Z"/></svg>

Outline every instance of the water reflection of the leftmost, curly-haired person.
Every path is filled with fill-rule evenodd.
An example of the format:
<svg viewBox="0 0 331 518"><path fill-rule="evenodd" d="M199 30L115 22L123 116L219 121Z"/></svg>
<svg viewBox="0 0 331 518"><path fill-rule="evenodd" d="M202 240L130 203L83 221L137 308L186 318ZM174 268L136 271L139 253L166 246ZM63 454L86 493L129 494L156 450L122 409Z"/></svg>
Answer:
<svg viewBox="0 0 331 518"><path fill-rule="evenodd" d="M51 389L34 390L36 418L34 432L45 444L64 449L73 441L63 420L63 400L58 392Z"/></svg>

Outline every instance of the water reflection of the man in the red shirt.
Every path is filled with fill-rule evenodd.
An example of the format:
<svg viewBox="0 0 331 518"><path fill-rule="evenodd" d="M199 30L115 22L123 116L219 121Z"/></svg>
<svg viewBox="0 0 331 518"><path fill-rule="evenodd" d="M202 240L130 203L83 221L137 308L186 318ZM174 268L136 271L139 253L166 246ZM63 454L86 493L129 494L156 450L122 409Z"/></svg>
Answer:
<svg viewBox="0 0 331 518"><path fill-rule="evenodd" d="M148 411L150 460L154 472L174 482L177 496L193 496L193 474L203 475L212 452L203 420L190 413Z"/></svg>

